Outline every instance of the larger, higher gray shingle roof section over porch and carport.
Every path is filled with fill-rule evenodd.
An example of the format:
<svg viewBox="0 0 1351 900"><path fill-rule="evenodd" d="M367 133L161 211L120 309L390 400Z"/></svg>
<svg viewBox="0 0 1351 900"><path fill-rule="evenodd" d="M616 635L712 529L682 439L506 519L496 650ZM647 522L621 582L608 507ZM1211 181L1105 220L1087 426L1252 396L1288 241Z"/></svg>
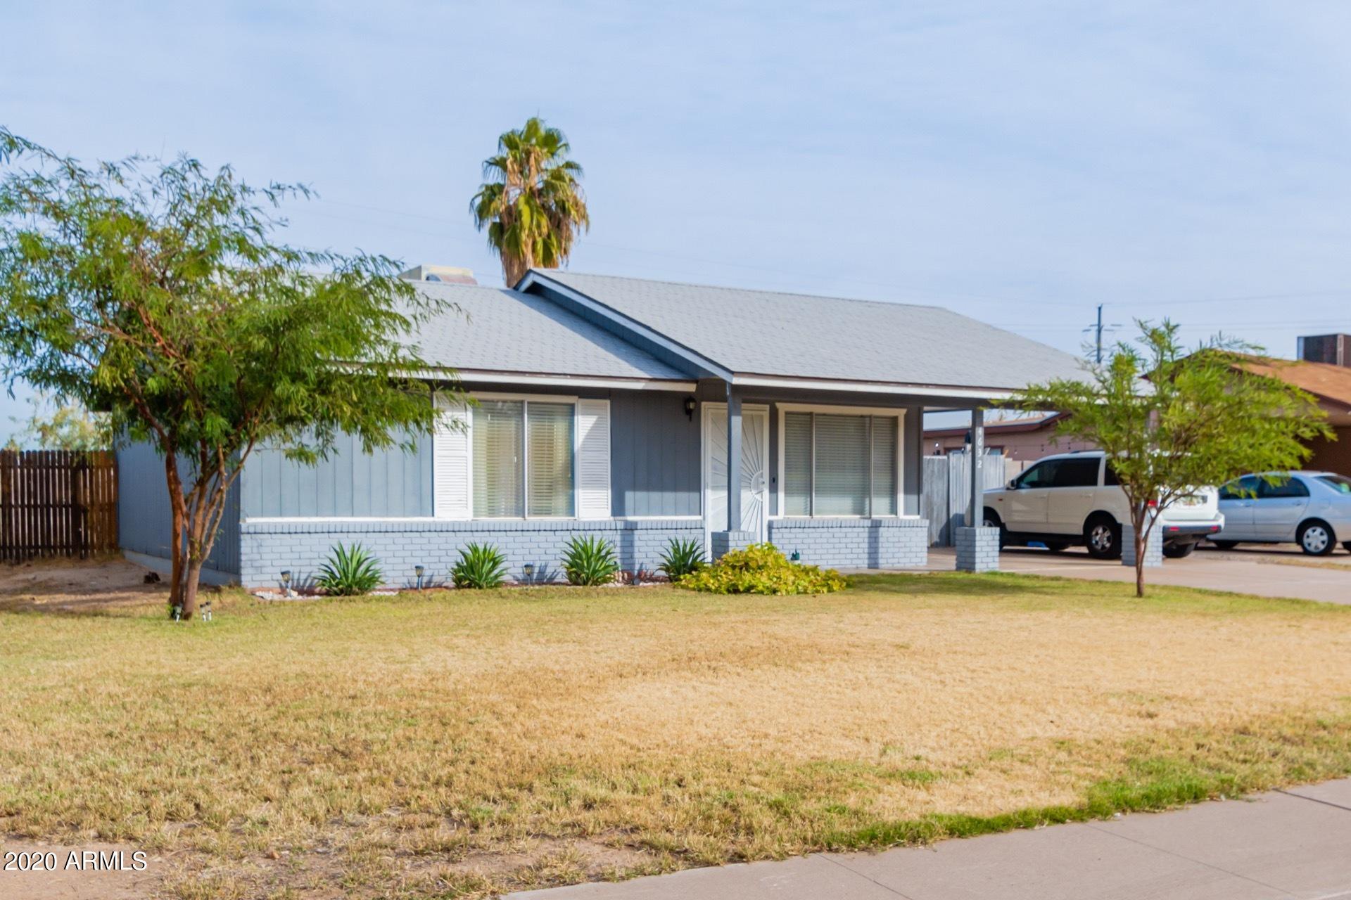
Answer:
<svg viewBox="0 0 1351 900"><path fill-rule="evenodd" d="M1017 389L1079 362L939 306L535 270L735 374Z"/></svg>

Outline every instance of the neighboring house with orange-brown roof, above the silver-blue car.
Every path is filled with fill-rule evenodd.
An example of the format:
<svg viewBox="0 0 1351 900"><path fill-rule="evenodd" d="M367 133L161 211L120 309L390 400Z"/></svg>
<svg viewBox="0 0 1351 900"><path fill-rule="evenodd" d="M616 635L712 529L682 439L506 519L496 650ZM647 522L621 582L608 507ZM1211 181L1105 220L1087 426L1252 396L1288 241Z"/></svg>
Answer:
<svg viewBox="0 0 1351 900"><path fill-rule="evenodd" d="M1328 425L1336 437L1309 443L1313 456L1305 461L1305 471L1351 476L1351 335L1301 337L1298 351L1297 360L1254 364L1250 368L1306 390L1328 414Z"/></svg>

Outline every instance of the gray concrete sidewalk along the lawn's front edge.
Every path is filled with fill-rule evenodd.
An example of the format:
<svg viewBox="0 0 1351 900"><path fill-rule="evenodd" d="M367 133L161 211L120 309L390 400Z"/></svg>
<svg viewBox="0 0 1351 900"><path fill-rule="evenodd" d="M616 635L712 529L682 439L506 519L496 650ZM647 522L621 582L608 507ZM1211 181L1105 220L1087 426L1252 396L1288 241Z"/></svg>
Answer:
<svg viewBox="0 0 1351 900"><path fill-rule="evenodd" d="M1332 900L1351 897L1351 780L1175 812L878 854L690 869L521 900Z"/></svg>

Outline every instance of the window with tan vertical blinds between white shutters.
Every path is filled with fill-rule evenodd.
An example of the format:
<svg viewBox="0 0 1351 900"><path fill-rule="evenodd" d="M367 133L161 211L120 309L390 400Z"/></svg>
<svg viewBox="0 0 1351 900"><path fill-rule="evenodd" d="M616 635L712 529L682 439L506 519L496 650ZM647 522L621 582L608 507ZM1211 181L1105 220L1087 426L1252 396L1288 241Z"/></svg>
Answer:
<svg viewBox="0 0 1351 900"><path fill-rule="evenodd" d="M474 518L570 518L573 403L481 399L473 413Z"/></svg>

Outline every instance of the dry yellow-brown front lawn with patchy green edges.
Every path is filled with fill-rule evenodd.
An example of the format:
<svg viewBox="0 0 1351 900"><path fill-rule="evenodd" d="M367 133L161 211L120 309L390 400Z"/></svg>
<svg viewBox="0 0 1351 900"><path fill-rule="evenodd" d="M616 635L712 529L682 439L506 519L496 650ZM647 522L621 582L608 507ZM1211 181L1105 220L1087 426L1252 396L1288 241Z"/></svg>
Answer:
<svg viewBox="0 0 1351 900"><path fill-rule="evenodd" d="M0 834L482 896L1351 773L1351 609L1029 576L0 611Z"/></svg>

